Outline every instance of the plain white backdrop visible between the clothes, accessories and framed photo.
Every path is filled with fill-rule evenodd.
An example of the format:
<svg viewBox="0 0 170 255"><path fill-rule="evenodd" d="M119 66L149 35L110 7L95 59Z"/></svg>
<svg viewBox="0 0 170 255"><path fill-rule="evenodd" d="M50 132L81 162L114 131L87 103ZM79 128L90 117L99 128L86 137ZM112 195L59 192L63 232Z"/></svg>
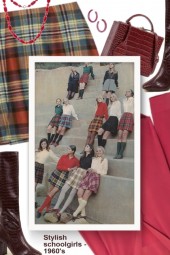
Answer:
<svg viewBox="0 0 170 255"><path fill-rule="evenodd" d="M27 4L27 0L18 0L18 2L22 2L22 4ZM50 5L58 5L63 3L73 2L70 0L51 0ZM114 20L121 20L125 21L127 18L129 18L133 14L142 13L147 15L153 22L155 32L157 32L160 36L164 37L164 16L165 16L165 3L161 0L101 0L100 2L98 0L91 0L91 1L85 1L85 0L77 0L86 20L87 23L91 29L91 32L93 34L94 40L96 42L99 54L102 52L102 49L104 47L104 43L107 39L107 36L109 34L111 25ZM36 3L37 7L43 7L46 5L45 0L39 0ZM8 10L18 10L16 6L12 5L10 1L7 1ZM87 19L88 11L94 9L98 12L99 19L105 19L107 21L107 30L104 33L99 33L96 29L95 23L90 23ZM1 1L0 5L0 12L3 12L3 5ZM139 23L139 27L144 26L148 27L147 21L143 19L136 19L135 25ZM134 24L133 22L133 24ZM163 44L164 45L164 44ZM161 64L163 54L163 46L161 47L160 51L160 61L157 65L157 68L154 73L157 72L159 69L159 66ZM150 79L152 76L148 78L141 77L141 84L144 83L146 80ZM139 87L140 93L141 93L141 112L143 114L151 116L150 113L150 105L149 105L149 97L160 95L163 93L146 93L144 92L141 87ZM20 185L20 213L21 213L21 222L23 231L25 234L25 237L30 242L31 245L33 245L35 248L39 249L43 253L43 235L44 234L56 234L56 232L42 232L42 231L29 231L28 229L28 143L23 144L16 144L16 145L3 145L0 146L0 151L19 151L19 158L20 158L20 183L22 180L22 186ZM80 236L78 232L57 232L57 234L66 234L68 236L68 241L82 241L84 240ZM72 248L66 250L66 254L68 255L78 255L81 252L81 255L92 255L93 253L90 251L90 249L87 246L84 246L79 250L78 248Z"/></svg>

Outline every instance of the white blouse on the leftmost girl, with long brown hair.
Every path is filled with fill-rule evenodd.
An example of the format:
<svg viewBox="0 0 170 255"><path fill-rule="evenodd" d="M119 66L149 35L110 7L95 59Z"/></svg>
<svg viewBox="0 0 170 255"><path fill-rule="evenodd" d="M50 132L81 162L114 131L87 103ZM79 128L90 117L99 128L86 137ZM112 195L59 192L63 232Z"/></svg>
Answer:
<svg viewBox="0 0 170 255"><path fill-rule="evenodd" d="M53 159L55 162L59 160L59 157L57 157L52 150L47 151L44 149L43 151L37 151L35 154L35 161L40 164L45 164L49 158Z"/></svg>

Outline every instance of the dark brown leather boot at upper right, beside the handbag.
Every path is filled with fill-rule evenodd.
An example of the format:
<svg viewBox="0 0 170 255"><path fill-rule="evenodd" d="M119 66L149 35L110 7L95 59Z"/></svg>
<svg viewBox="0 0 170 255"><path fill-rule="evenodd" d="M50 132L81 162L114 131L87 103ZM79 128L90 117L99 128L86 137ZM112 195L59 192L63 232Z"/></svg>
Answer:
<svg viewBox="0 0 170 255"><path fill-rule="evenodd" d="M165 91L170 88L170 2L165 1L165 49L162 65L158 73L143 84L147 91Z"/></svg>

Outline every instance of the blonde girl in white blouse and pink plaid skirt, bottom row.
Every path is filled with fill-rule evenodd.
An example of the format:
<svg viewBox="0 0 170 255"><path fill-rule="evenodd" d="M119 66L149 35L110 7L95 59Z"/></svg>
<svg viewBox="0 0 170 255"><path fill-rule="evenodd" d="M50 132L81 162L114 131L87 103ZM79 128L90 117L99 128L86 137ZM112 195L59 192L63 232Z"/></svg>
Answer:
<svg viewBox="0 0 170 255"><path fill-rule="evenodd" d="M98 146L96 149L96 157L92 159L91 168L86 172L86 176L80 182L80 186L77 192L79 206L73 213L73 220L75 220L79 213L80 217L85 218L85 207L88 199L94 192L97 193L100 184L100 176L107 174L108 160L104 156L105 150L102 146Z"/></svg>

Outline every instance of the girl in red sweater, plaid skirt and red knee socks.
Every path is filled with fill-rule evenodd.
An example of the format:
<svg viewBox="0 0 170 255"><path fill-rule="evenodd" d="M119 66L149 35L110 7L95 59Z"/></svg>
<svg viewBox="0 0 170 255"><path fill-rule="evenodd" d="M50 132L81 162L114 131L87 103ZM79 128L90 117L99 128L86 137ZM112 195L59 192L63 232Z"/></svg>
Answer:
<svg viewBox="0 0 170 255"><path fill-rule="evenodd" d="M41 217L41 213L44 208L47 208L48 211L53 196L64 186L68 178L69 171L72 171L74 170L74 168L79 167L79 160L74 156L75 151L76 146L70 145L68 147L68 153L61 156L61 158L59 159L56 170L52 172L48 180L51 186L46 199L44 200L41 207L37 210L37 218Z"/></svg>

